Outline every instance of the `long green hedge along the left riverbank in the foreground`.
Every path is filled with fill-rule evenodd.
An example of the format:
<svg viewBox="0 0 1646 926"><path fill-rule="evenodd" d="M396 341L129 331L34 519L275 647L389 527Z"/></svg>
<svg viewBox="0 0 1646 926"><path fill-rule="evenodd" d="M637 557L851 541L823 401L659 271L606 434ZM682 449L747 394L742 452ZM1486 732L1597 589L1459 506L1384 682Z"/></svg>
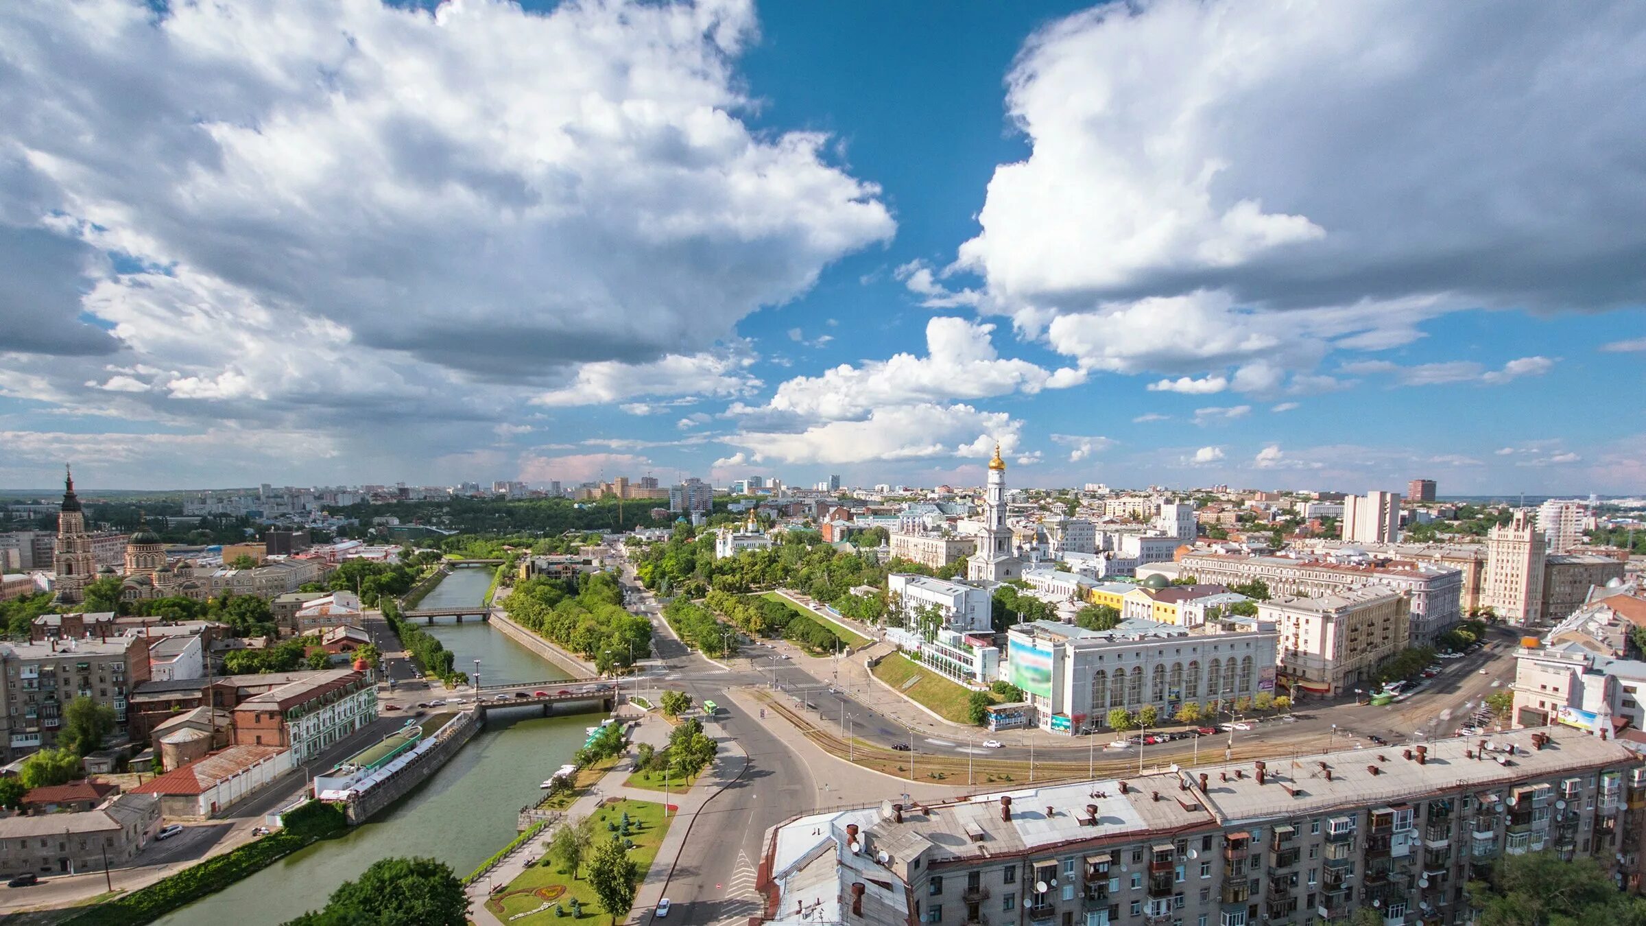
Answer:
<svg viewBox="0 0 1646 926"><path fill-rule="evenodd" d="M64 926L142 926L173 910L217 893L226 886L267 868L280 858L328 835L347 829L342 811L334 804L309 801L285 816L286 827L253 842L214 855L199 865L183 868L146 888L86 908L66 919Z"/></svg>

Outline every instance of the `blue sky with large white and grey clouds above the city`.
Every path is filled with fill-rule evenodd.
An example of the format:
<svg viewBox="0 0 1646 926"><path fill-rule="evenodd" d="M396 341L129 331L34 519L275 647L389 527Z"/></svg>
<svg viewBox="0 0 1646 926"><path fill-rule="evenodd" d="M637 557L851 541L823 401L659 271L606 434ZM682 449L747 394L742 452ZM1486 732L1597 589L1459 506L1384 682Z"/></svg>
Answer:
<svg viewBox="0 0 1646 926"><path fill-rule="evenodd" d="M0 486L1646 491L1646 5L0 7Z"/></svg>

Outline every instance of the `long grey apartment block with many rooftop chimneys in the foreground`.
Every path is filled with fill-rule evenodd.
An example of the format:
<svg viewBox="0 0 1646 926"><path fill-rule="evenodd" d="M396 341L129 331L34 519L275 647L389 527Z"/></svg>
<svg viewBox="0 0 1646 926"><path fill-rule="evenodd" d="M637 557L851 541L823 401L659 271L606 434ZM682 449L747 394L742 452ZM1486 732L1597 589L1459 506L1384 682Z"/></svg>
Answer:
<svg viewBox="0 0 1646 926"><path fill-rule="evenodd" d="M1371 906L1467 923L1503 855L1593 855L1638 886L1639 758L1575 730L1183 768L797 816L762 923L1287 926Z"/></svg>

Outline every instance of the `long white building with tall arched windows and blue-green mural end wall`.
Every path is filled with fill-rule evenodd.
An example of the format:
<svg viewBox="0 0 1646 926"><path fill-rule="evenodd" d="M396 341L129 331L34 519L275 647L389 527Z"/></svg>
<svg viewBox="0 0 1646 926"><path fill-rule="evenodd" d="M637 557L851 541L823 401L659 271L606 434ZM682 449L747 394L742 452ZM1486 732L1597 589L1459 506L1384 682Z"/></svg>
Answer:
<svg viewBox="0 0 1646 926"><path fill-rule="evenodd" d="M1155 621L1121 621L1108 631L1034 621L1007 631L1007 672L1053 733L1108 727L1109 710L1154 705L1160 717L1185 704L1274 694L1276 633L1195 634Z"/></svg>

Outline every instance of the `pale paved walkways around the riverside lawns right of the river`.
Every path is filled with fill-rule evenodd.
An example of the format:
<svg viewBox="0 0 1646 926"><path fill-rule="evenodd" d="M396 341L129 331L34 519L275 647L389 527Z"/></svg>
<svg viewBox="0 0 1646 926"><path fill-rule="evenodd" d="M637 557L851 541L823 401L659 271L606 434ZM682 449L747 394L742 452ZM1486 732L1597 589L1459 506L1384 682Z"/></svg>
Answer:
<svg viewBox="0 0 1646 926"><path fill-rule="evenodd" d="M672 730L673 727L662 720L662 717L647 715L647 718L635 728L632 741L662 746L668 741L668 733ZM680 860L680 852L685 849L686 835L690 835L691 824L696 821L698 812L716 794L719 794L721 789L741 778L744 768L749 765L747 755L744 755L742 746L739 746L734 740L728 737L716 737L716 741L719 743L719 755L714 760L714 766L698 778L696 784L693 784L685 794L668 794L668 804L675 807L675 812L670 817L668 832L663 835L663 842L657 847L657 857L652 862L652 868L647 870L645 880L640 882L635 890L629 923L640 923L640 919L649 916L650 910L657 906L657 901L663 898L668 890L668 880L675 873L675 862ZM625 760L619 763L619 768L606 773L593 788L589 788L586 794L573 801L563 819L574 821L586 817L609 797L649 801L653 804L663 802L662 791L624 786L629 774L630 769L625 756ZM543 842L546 839L548 830L543 830L537 837L523 842L518 849L499 862L489 877L479 878L467 886L469 918L474 923L479 926L504 926L504 923L494 916L492 911L486 910L486 898L491 896L492 886L507 885L520 877L520 873L525 872L528 858L542 858Z"/></svg>

